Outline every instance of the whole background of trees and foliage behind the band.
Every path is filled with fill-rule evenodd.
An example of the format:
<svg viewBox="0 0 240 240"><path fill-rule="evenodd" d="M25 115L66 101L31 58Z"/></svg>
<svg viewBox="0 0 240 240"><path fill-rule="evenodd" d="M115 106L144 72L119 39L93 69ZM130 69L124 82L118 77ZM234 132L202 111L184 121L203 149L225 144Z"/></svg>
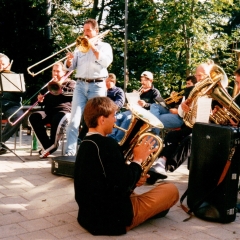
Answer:
<svg viewBox="0 0 240 240"><path fill-rule="evenodd" d="M124 86L125 0L2 0L1 52L14 59L13 70L24 72L28 91L49 80L50 71L33 79L26 68L73 43L87 18L96 18L113 48L114 72ZM11 16L11 18L9 18ZM164 97L179 91L195 67L213 59L233 81L240 38L239 0L128 0L127 91L138 89L140 75L154 73L154 85ZM10 26L10 27L9 27ZM51 26L52 36L45 32ZM65 53L62 54L64 56ZM62 57L59 56L59 57ZM232 83L231 83L232 84Z"/></svg>

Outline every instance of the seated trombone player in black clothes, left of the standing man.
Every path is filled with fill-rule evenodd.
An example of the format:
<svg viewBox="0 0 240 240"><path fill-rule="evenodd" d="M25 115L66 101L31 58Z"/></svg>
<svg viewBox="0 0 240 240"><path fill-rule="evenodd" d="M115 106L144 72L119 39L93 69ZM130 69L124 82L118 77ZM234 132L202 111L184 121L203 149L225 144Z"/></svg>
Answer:
<svg viewBox="0 0 240 240"><path fill-rule="evenodd" d="M44 107L44 111L34 112L29 117L29 122L43 148L39 151L40 158L46 158L57 150L68 125L75 81L66 79L65 74L66 71L61 62L53 65L53 81L60 83L62 93L54 95L50 91L46 96L39 94L39 105ZM50 136L46 132L46 124L51 124Z"/></svg>

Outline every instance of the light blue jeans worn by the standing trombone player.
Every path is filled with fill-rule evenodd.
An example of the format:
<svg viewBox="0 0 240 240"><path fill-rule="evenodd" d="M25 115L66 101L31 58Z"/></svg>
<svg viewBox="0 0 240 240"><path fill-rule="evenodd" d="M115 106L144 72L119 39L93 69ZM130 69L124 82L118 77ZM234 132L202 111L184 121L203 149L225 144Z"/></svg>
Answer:
<svg viewBox="0 0 240 240"><path fill-rule="evenodd" d="M87 83L77 80L73 92L70 123L67 128L65 153L70 153L73 156L76 154L79 125L87 101L94 97L105 97L106 95L105 81Z"/></svg>

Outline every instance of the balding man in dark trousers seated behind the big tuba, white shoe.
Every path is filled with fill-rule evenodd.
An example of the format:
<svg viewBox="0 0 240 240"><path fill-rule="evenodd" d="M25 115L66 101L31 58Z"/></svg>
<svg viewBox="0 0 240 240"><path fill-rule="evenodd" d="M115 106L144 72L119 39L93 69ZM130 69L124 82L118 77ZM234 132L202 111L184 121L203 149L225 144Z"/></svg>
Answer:
<svg viewBox="0 0 240 240"><path fill-rule="evenodd" d="M200 64L196 68L195 77L197 82L202 81L210 74L210 70L214 65L213 61ZM190 93L190 92L189 92ZM186 99L189 95L187 93ZM187 100L186 100L187 101ZM182 102L180 108L184 112L188 112L190 107L186 103ZM175 162L173 159L175 157L176 149L179 146L179 143L184 141L192 133L192 128L183 124L180 130L170 131L164 138L164 148L160 153L160 157L154 162L153 166L149 169L148 174L150 177L147 179L149 184L154 184L158 179L167 178L166 171L174 171L176 167L179 166L179 163ZM186 141L186 145L189 144L189 141ZM178 159L183 160L183 159Z"/></svg>

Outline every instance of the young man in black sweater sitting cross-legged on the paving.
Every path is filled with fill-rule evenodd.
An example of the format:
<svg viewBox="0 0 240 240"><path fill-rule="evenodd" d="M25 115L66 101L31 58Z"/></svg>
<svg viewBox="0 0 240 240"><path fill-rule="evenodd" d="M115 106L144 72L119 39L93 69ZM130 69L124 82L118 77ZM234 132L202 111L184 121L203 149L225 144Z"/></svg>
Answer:
<svg viewBox="0 0 240 240"><path fill-rule="evenodd" d="M178 201L172 183L143 194L132 194L145 183L142 161L154 152L154 140L144 138L134 148L133 162L125 164L118 143L106 137L116 121L117 106L108 97L90 99L84 110L89 128L76 157L74 189L78 222L93 235L120 235L149 218L163 217Z"/></svg>

